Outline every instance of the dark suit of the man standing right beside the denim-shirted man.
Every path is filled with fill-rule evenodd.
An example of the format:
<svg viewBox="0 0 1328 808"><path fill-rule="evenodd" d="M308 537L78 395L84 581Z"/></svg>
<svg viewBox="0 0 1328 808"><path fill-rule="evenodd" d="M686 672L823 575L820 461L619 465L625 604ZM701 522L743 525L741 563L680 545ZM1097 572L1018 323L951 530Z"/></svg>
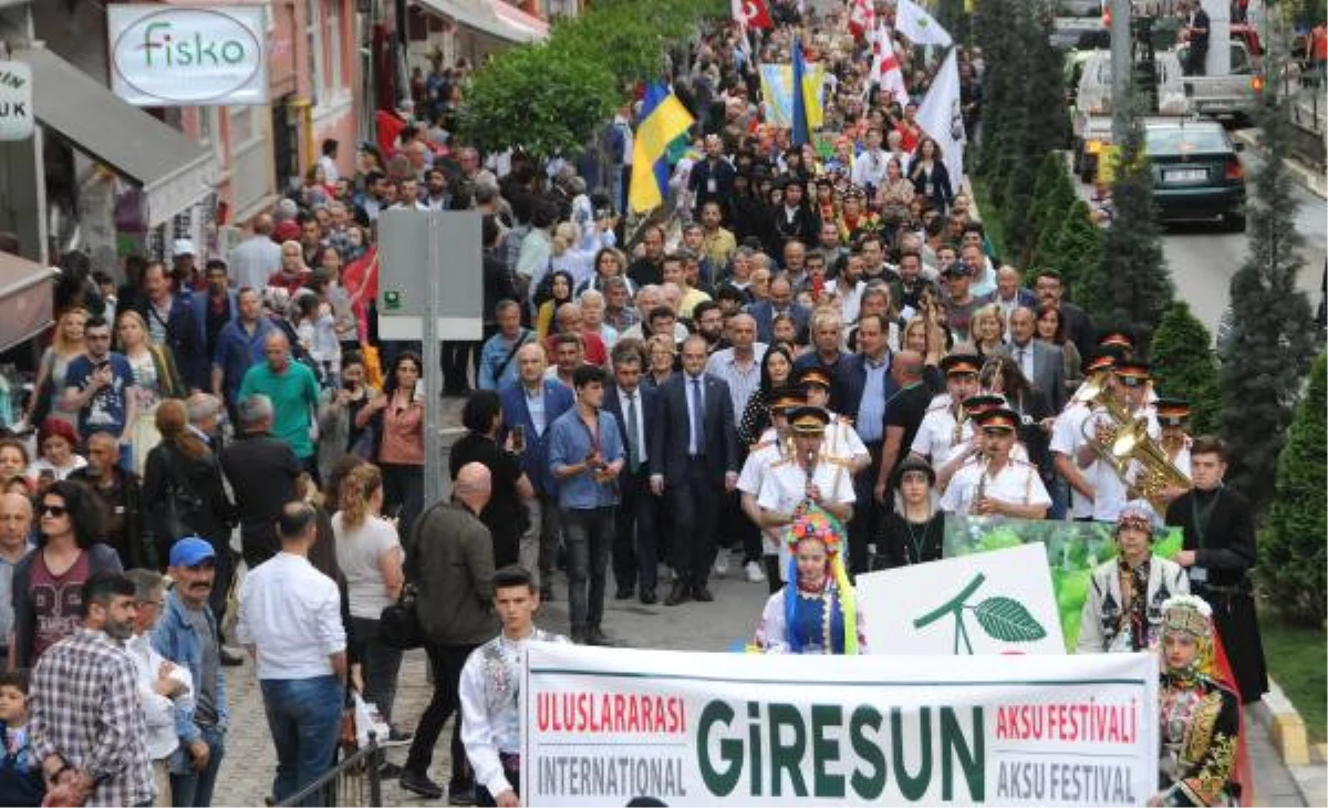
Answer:
<svg viewBox="0 0 1328 808"><path fill-rule="evenodd" d="M652 436L659 429L659 391L645 384L636 387L640 397L641 423L645 443L645 461L632 473L631 440L627 436L627 415L616 384L604 391L604 411L618 423L618 435L623 439L627 452L627 465L619 480L618 532L614 540L614 579L620 593L631 591L640 575L641 590L653 590L659 583L659 500L651 492L651 452Z"/></svg>

